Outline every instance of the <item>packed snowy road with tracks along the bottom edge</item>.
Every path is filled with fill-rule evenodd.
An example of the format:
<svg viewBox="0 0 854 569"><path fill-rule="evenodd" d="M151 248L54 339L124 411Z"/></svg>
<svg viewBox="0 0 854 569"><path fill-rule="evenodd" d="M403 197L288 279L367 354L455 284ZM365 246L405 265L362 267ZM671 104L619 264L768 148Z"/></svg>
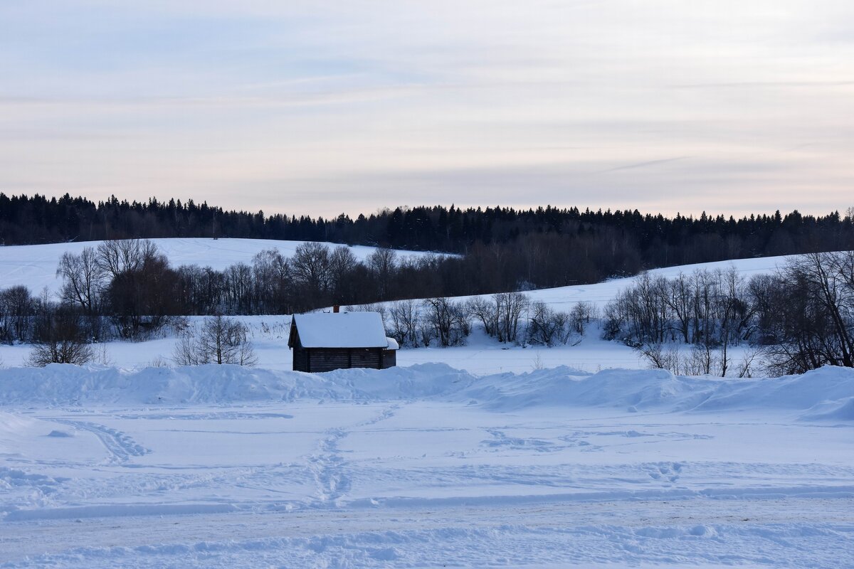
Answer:
<svg viewBox="0 0 854 569"><path fill-rule="evenodd" d="M308 509L6 523L9 567L852 566L851 499ZM33 539L33 536L38 539ZM115 544L120 543L120 547ZM0 561L0 566L5 566Z"/></svg>

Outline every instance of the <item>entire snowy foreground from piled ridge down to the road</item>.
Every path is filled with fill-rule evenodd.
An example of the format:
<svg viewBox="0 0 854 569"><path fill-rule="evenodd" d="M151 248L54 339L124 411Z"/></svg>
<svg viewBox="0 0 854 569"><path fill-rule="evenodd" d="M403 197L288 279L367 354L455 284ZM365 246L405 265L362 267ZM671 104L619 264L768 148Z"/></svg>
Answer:
<svg viewBox="0 0 854 569"><path fill-rule="evenodd" d="M0 370L0 567L854 566L854 370Z"/></svg>

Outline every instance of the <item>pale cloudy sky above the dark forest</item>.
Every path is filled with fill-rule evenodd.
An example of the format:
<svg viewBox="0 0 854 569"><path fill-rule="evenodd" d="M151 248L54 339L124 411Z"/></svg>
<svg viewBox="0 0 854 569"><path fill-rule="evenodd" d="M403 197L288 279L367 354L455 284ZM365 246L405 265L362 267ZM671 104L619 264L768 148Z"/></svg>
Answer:
<svg viewBox="0 0 854 569"><path fill-rule="evenodd" d="M0 2L0 191L854 206L850 0Z"/></svg>

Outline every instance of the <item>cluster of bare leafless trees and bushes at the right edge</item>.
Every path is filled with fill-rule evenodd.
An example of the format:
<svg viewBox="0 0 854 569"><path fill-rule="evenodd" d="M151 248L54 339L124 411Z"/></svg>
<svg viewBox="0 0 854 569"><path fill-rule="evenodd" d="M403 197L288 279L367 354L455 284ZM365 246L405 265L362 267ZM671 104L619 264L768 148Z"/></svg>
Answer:
<svg viewBox="0 0 854 569"><path fill-rule="evenodd" d="M603 333L653 367L681 374L750 374L757 356L772 375L851 368L854 252L800 255L750 279L734 269L672 279L643 274L605 307ZM753 349L733 362L733 345Z"/></svg>

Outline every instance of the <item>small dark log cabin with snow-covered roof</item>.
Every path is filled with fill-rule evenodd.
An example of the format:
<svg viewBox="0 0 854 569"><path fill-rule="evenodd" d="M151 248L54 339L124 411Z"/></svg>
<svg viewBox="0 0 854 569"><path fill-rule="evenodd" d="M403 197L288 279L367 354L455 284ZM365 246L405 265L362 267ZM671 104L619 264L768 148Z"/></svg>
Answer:
<svg viewBox="0 0 854 569"><path fill-rule="evenodd" d="M294 371L387 369L397 363L397 342L385 337L377 312L295 314L288 347L294 351Z"/></svg>

